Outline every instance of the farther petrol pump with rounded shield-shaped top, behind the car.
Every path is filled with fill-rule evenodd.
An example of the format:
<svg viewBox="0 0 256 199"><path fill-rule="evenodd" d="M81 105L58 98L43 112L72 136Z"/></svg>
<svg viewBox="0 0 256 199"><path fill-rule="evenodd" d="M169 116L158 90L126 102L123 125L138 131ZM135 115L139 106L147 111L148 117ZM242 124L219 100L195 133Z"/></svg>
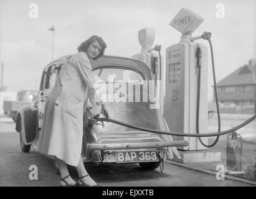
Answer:
<svg viewBox="0 0 256 199"><path fill-rule="evenodd" d="M145 62L151 68L154 75L154 84L156 85L156 98L158 98L157 100L163 113L164 83L161 81L164 77L163 68L161 68L163 57L160 53L161 45L156 45L152 48L154 37L155 29L151 27L139 30L138 39L141 45L141 52L132 57Z"/></svg>

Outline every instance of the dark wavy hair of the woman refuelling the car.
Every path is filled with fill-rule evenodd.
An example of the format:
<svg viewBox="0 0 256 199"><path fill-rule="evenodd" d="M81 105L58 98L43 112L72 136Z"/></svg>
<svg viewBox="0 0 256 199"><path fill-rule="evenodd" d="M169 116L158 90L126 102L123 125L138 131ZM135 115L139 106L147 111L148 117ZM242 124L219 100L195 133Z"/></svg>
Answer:
<svg viewBox="0 0 256 199"><path fill-rule="evenodd" d="M87 52L87 49L89 45L91 45L93 42L98 42L102 46L102 50L98 54L97 57L92 58L93 60L97 60L98 58L102 57L104 55L104 51L107 48L107 44L103 41L102 37L98 37L97 35L93 35L89 39L87 39L85 42L83 42L78 48L78 52Z"/></svg>

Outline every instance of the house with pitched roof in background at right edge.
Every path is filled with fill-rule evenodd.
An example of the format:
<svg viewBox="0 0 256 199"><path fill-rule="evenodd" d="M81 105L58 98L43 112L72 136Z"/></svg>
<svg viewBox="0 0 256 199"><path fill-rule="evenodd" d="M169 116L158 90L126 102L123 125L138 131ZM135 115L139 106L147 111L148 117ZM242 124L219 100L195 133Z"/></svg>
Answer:
<svg viewBox="0 0 256 199"><path fill-rule="evenodd" d="M217 92L220 113L256 113L256 59L220 80Z"/></svg>

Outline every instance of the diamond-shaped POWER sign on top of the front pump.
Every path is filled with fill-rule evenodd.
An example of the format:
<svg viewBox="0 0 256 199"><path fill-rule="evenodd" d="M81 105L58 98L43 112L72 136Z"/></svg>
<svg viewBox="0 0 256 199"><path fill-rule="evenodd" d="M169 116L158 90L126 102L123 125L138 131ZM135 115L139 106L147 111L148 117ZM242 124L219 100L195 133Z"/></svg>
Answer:
<svg viewBox="0 0 256 199"><path fill-rule="evenodd" d="M192 34L194 30L204 21L204 18L200 17L196 13L189 9L181 9L178 14L169 23L174 29L178 30L182 34Z"/></svg>

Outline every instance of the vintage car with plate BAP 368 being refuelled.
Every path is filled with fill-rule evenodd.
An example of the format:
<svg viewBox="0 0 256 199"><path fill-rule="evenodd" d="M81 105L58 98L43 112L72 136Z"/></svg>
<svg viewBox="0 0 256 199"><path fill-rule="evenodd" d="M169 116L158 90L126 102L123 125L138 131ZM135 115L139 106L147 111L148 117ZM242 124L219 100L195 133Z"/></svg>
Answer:
<svg viewBox="0 0 256 199"><path fill-rule="evenodd" d="M51 62L44 68L37 103L19 110L16 130L20 132L21 150L29 152L37 147L45 100L54 86L56 76L70 55ZM133 58L103 56L92 61L92 70L107 99L106 108L111 119L134 126L168 131L160 108L151 108L153 96L141 90L148 87L153 74L146 63ZM116 86L116 84L118 86ZM139 88L131 89L128 88ZM153 86L153 91L155 87ZM154 95L154 92L153 92ZM133 100L129 100L129 99ZM115 100L111 100L115 99ZM122 164L139 163L143 169L156 169L166 159L166 147L174 146L161 134L138 131L113 123L90 126L89 114L83 115L83 161Z"/></svg>

